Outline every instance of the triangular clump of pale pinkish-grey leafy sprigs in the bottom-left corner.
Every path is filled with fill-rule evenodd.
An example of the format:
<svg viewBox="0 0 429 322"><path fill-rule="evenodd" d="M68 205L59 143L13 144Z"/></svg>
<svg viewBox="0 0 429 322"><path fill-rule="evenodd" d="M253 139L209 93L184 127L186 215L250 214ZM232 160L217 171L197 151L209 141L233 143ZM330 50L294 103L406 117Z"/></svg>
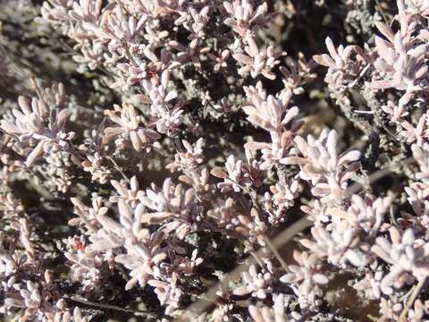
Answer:
<svg viewBox="0 0 429 322"><path fill-rule="evenodd" d="M88 321L91 317L82 315L79 308L70 309L64 300L64 293L54 279L53 272L45 270L45 255L34 246L35 234L29 226L26 214L11 225L19 232L19 240L7 240L4 233L1 242L14 247L2 249L0 276L4 301L0 312L11 315L21 309L21 321Z"/></svg>

